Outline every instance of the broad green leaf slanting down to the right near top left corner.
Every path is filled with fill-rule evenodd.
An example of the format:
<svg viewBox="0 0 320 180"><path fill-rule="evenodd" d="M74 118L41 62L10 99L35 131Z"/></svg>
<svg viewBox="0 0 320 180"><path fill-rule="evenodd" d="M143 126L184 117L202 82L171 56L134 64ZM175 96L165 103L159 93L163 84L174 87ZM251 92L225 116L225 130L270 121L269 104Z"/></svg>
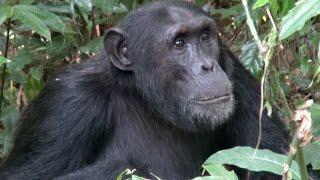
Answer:
<svg viewBox="0 0 320 180"><path fill-rule="evenodd" d="M30 5L16 5L13 6L14 18L19 19L23 24L28 26L30 29L37 32L39 35L51 39L51 34L49 28L39 17L30 11Z"/></svg>

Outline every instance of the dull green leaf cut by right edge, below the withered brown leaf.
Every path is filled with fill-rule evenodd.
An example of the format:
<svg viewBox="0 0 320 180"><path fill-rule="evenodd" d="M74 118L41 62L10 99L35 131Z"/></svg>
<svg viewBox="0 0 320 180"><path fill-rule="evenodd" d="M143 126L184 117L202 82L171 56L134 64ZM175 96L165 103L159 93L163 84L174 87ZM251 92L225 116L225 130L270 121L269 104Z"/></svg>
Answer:
<svg viewBox="0 0 320 180"><path fill-rule="evenodd" d="M303 147L303 157L306 165L312 165L314 170L320 169L320 144L314 142Z"/></svg>

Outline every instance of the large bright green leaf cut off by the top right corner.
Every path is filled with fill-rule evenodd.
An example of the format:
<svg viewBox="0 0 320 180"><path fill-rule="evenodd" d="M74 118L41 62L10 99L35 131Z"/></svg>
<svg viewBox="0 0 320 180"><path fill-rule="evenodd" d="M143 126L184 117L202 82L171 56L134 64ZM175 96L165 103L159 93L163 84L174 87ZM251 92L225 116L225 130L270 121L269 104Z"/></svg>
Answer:
<svg viewBox="0 0 320 180"><path fill-rule="evenodd" d="M319 0L305 0L291 9L281 20L280 40L302 29L307 20L318 14L320 14Z"/></svg>

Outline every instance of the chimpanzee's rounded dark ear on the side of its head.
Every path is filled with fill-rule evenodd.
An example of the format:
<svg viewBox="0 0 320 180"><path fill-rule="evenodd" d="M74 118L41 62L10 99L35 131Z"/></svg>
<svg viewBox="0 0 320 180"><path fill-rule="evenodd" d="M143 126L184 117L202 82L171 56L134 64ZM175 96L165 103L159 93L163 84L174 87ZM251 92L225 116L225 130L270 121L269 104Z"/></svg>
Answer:
<svg viewBox="0 0 320 180"><path fill-rule="evenodd" d="M124 71L132 71L132 62L127 58L126 32L119 28L109 29L103 40L111 63Z"/></svg>

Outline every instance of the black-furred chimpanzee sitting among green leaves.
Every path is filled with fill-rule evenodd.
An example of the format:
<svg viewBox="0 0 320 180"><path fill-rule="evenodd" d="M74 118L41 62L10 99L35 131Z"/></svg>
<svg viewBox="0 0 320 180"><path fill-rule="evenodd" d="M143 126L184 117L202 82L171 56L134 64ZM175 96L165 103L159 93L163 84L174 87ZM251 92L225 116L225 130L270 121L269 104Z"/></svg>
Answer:
<svg viewBox="0 0 320 180"><path fill-rule="evenodd" d="M187 179L218 150L255 146L259 84L212 17L160 1L131 12L104 51L48 81L24 111L0 174L9 179ZM263 115L260 148L285 153L288 130ZM240 178L272 176L235 168Z"/></svg>

